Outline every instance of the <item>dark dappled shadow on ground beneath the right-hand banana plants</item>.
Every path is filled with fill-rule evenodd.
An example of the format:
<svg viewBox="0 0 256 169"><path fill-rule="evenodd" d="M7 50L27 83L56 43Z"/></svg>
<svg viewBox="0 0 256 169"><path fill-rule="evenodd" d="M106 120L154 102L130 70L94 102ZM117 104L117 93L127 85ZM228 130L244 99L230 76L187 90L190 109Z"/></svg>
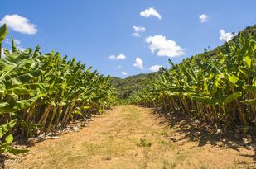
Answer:
<svg viewBox="0 0 256 169"><path fill-rule="evenodd" d="M188 115L181 113L167 113L163 110L153 110L155 118L162 118L166 121L169 129L175 129L179 134L177 141L186 139L192 142L198 142L198 147L203 147L210 143L216 148L232 148L239 152L239 147L243 146L246 149L254 148L254 156L240 154L240 156L250 157L256 160L256 136L249 135L250 143L244 143L243 138L247 138L248 134L237 133L232 130L216 129L215 126L210 126L205 122L191 118ZM224 132L225 131L225 132Z"/></svg>

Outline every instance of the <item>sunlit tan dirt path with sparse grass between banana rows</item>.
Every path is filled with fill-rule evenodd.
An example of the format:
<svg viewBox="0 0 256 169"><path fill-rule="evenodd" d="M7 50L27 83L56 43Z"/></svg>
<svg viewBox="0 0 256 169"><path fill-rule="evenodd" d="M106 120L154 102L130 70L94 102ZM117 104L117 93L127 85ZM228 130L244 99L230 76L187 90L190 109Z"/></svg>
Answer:
<svg viewBox="0 0 256 169"><path fill-rule="evenodd" d="M173 142L170 136L179 139ZM254 168L252 150L198 146L152 110L115 106L80 132L36 143L7 168ZM243 156L242 156L243 155Z"/></svg>

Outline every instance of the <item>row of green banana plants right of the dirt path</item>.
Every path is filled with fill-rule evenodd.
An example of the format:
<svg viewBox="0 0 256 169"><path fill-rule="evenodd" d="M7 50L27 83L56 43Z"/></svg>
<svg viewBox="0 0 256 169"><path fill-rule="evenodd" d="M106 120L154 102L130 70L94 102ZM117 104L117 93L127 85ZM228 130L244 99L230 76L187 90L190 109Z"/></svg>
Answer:
<svg viewBox="0 0 256 169"><path fill-rule="evenodd" d="M162 68L152 84L133 93L133 103L256 132L256 42L251 35L239 33L216 56L169 63L170 69Z"/></svg>

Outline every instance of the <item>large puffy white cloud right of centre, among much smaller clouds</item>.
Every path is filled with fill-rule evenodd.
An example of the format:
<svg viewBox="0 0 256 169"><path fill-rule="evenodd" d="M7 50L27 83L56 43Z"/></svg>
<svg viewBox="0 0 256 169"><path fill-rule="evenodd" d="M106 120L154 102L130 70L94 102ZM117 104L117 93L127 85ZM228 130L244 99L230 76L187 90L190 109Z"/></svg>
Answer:
<svg viewBox="0 0 256 169"><path fill-rule="evenodd" d="M154 53L157 51L157 56L177 57L185 54L185 49L177 45L174 40L167 40L163 35L149 36L146 42L150 44L149 49Z"/></svg>

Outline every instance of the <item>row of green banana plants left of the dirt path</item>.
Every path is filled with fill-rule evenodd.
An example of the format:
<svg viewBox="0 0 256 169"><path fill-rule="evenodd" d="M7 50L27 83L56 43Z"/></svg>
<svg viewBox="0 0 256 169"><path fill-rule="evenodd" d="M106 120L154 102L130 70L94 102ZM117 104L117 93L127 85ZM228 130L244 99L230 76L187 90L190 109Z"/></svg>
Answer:
<svg viewBox="0 0 256 169"><path fill-rule="evenodd" d="M7 26L0 28L0 44ZM0 59L0 153L10 148L12 134L31 137L35 129L51 130L71 119L109 108L116 93L109 77L99 75L84 63L51 51L4 49ZM16 151L17 152L17 151Z"/></svg>

